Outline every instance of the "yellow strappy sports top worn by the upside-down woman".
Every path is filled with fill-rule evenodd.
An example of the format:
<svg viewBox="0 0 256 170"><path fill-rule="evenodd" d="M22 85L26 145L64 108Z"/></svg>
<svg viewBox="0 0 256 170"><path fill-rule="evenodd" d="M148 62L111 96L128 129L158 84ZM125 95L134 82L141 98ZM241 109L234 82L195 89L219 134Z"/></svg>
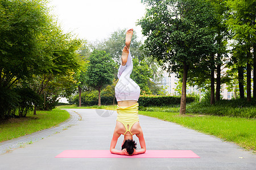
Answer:
<svg viewBox="0 0 256 170"><path fill-rule="evenodd" d="M131 133L131 127L133 126L133 124L139 121L138 109L138 103L135 103L134 105L131 105L129 107L119 107L117 105L117 121L121 122L123 126L125 126L125 134L127 133L127 131ZM127 128L127 125L129 125L129 129ZM131 133L131 135L133 134Z"/></svg>

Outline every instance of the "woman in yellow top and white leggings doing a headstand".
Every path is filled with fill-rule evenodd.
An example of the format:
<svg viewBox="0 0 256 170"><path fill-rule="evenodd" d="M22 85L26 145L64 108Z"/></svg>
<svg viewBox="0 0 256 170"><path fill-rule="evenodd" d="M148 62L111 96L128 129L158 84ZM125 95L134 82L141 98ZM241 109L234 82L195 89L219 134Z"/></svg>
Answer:
<svg viewBox="0 0 256 170"><path fill-rule="evenodd" d="M133 29L129 29L126 33L126 46L123 48L122 63L117 75L119 80L115 86L118 116L110 145L112 154L135 155L146 152L146 143L138 117L137 101L141 90L138 84L130 78L131 71L133 71L133 60L130 54L131 37L133 37ZM124 135L122 150L117 150L115 145L121 134ZM133 135L139 138L140 150L135 150L137 143L133 141Z"/></svg>

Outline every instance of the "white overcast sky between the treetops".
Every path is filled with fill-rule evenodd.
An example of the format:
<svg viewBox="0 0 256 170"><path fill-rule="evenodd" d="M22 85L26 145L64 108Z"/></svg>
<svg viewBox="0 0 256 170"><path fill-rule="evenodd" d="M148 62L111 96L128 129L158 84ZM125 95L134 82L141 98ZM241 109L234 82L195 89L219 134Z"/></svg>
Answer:
<svg viewBox="0 0 256 170"><path fill-rule="evenodd" d="M118 28L133 28L142 39L138 19L145 14L141 0L51 0L53 14L64 32L80 39L103 40Z"/></svg>

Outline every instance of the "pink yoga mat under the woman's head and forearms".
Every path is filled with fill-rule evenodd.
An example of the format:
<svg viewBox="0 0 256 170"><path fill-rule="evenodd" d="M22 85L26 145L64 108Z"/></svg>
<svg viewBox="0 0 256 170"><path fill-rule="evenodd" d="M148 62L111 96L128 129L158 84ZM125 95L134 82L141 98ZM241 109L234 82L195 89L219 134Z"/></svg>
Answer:
<svg viewBox="0 0 256 170"><path fill-rule="evenodd" d="M111 154L109 150L65 150L55 158L200 158L191 150L147 150L139 155Z"/></svg>

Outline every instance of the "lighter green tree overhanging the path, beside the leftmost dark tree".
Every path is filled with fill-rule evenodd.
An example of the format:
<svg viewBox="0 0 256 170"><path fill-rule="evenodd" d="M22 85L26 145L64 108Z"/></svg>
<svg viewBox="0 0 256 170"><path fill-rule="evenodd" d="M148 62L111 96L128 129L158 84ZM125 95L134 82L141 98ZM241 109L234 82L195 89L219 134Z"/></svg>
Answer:
<svg viewBox="0 0 256 170"><path fill-rule="evenodd" d="M41 95L49 82L57 77L70 75L79 68L80 58L76 51L80 48L81 40L72 39L72 35L63 33L56 23L49 23L38 41L40 41L38 56L41 56L44 62L38 63L32 84L36 93ZM36 106L34 114L36 114Z"/></svg>

